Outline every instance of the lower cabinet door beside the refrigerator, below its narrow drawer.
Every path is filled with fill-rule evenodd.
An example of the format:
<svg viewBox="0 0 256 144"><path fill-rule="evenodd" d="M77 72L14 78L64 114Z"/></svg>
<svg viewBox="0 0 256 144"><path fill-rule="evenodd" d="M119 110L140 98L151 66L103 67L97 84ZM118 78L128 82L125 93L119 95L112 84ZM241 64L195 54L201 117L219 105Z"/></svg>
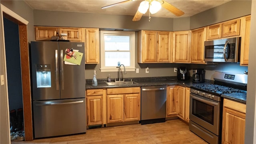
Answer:
<svg viewBox="0 0 256 144"><path fill-rule="evenodd" d="M87 96L86 102L88 126L103 124L103 96Z"/></svg>

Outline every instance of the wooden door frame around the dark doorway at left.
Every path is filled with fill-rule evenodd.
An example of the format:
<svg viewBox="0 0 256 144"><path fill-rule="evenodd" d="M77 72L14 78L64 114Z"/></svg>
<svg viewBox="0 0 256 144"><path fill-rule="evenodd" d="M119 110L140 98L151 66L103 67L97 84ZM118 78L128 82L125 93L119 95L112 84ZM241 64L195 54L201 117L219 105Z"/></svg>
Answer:
<svg viewBox="0 0 256 144"><path fill-rule="evenodd" d="M29 50L28 50L28 34L27 25L28 21L8 9L1 4L1 21L3 32L3 55L4 55L4 81L7 100L7 116L8 116L8 128L10 132L10 114L9 114L9 101L8 101L8 85L7 85L7 71L6 71L6 55L5 55L5 41L4 41L4 22L3 19L7 18L12 22L18 24L19 27L19 41L20 41L20 64L21 64L21 76L22 76L22 98L23 98L23 115L24 115L24 132L25 141L33 140L33 128L32 128L32 104L31 104L31 89L30 89L30 63L29 63ZM10 142L10 137L9 137Z"/></svg>

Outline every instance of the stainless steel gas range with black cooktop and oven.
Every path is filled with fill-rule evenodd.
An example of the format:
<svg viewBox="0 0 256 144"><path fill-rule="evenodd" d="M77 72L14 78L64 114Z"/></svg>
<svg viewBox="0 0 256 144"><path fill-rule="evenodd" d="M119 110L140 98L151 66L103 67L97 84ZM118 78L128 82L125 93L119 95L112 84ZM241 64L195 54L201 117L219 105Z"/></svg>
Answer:
<svg viewBox="0 0 256 144"><path fill-rule="evenodd" d="M210 144L221 143L221 94L245 92L247 75L225 72L214 73L214 84L190 87L189 129Z"/></svg>

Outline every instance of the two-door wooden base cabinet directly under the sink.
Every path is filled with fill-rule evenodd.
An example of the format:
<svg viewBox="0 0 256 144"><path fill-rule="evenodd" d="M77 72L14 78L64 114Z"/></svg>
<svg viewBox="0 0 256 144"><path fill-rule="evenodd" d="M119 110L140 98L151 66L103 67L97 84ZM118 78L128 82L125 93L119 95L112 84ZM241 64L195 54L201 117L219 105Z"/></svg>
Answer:
<svg viewBox="0 0 256 144"><path fill-rule="evenodd" d="M107 123L140 120L140 87L107 89Z"/></svg>

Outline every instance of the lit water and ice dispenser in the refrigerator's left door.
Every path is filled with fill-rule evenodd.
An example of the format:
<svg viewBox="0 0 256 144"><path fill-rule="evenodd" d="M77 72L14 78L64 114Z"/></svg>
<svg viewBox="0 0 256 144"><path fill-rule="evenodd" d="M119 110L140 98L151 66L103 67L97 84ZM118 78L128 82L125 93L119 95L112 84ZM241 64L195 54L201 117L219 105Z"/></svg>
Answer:
<svg viewBox="0 0 256 144"><path fill-rule="evenodd" d="M50 64L36 64L36 86L37 88L50 88L52 86Z"/></svg>

